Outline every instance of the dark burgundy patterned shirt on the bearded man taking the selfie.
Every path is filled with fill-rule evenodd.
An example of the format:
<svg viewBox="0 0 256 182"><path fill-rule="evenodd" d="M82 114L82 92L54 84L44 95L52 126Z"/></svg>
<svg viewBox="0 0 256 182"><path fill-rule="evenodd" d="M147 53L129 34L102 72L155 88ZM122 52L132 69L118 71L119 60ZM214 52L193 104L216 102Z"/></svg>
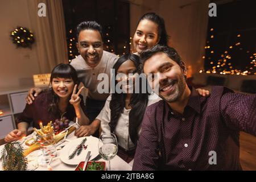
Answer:
<svg viewBox="0 0 256 182"><path fill-rule="evenodd" d="M133 170L240 170L239 131L256 135L256 94L194 88L183 114L165 101L148 106Z"/></svg>

